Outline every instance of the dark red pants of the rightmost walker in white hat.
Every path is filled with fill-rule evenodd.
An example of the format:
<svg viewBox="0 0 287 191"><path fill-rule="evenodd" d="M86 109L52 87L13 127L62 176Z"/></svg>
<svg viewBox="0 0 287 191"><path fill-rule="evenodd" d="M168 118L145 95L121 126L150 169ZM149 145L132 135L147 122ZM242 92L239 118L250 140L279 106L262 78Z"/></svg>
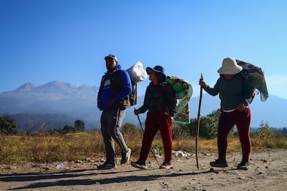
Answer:
<svg viewBox="0 0 287 191"><path fill-rule="evenodd" d="M250 108L243 111L237 109L232 112L222 112L218 121L218 158L226 158L227 150L227 135L229 131L236 125L239 140L242 149L242 161L249 162L251 152L251 139L250 139Z"/></svg>

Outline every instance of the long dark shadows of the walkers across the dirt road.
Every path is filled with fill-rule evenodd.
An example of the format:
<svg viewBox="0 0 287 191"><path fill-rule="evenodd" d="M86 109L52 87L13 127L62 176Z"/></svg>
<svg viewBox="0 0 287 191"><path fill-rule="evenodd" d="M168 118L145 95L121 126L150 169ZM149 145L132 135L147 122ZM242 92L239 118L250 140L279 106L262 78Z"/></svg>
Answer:
<svg viewBox="0 0 287 191"><path fill-rule="evenodd" d="M10 190L18 189L33 189L33 188L47 188L56 185L95 185L95 184L109 184L109 183L121 183L130 181L153 181L161 177L174 177L174 176L192 176L196 174L211 173L212 171L202 172L172 172L171 174L153 174L153 169L150 169L149 175L143 176L125 176L125 173L135 172L138 170L128 171L105 171L105 170L62 170L60 172L35 172L35 173L22 173L22 174L0 174L0 181L2 182L29 182L29 181L42 181L40 183L30 183L26 186L17 188L11 188ZM118 174L121 173L123 176L116 176L109 179L101 179L101 174ZM80 179L83 176L94 176L94 179ZM53 181L44 181L53 179ZM60 179L58 181L54 181ZM64 180L68 179L68 180Z"/></svg>

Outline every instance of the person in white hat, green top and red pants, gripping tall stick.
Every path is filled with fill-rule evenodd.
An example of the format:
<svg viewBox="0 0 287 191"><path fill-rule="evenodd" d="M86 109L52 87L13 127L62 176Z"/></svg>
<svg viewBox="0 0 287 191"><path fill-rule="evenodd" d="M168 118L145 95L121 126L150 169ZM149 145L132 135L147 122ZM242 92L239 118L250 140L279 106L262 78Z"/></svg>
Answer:
<svg viewBox="0 0 287 191"><path fill-rule="evenodd" d="M213 167L227 167L226 150L227 135L236 125L238 136L241 142L242 160L237 165L239 170L250 168L250 103L252 101L252 84L242 73L243 68L236 64L233 57L223 60L223 65L218 69L218 78L213 88L209 87L203 80L200 80L200 87L205 89L211 96L219 93L220 98L220 118L218 120L218 159L210 162Z"/></svg>

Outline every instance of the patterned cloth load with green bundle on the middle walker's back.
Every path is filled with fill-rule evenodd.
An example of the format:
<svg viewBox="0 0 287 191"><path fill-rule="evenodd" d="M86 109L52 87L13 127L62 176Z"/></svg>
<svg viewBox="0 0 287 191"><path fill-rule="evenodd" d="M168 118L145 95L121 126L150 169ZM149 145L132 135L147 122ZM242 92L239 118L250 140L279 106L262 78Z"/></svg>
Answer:
<svg viewBox="0 0 287 191"><path fill-rule="evenodd" d="M177 103L177 113L174 120L179 122L190 122L189 116L189 100L191 99L193 89L191 84L182 78L168 76L166 82L171 85L175 92L175 98L179 100Z"/></svg>

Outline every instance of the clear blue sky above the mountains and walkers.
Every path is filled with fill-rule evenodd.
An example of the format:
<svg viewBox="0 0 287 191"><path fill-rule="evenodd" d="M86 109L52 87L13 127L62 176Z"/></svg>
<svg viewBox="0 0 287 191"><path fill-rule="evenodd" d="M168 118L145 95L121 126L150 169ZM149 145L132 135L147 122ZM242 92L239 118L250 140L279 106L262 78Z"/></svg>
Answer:
<svg viewBox="0 0 287 191"><path fill-rule="evenodd" d="M287 1L0 0L0 92L26 82L100 84L105 55L191 82L199 96L225 57L261 66L287 99ZM143 95L148 80L139 83Z"/></svg>

